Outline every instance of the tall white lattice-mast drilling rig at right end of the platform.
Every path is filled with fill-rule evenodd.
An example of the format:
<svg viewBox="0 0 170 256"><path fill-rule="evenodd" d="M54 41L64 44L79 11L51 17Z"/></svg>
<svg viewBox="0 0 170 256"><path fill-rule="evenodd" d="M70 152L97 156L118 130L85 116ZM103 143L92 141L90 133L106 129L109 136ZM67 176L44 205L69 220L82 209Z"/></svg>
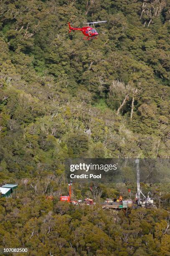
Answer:
<svg viewBox="0 0 170 256"><path fill-rule="evenodd" d="M153 198L149 197L149 193L147 197L145 197L145 195L142 193L142 191L140 190L140 167L139 167L139 159L135 160L135 164L136 164L136 172L137 172L137 205L141 206L141 207L145 207L145 208L151 208L151 207L155 207ZM151 194L151 193L150 193ZM140 195L143 196L143 200L141 200Z"/></svg>

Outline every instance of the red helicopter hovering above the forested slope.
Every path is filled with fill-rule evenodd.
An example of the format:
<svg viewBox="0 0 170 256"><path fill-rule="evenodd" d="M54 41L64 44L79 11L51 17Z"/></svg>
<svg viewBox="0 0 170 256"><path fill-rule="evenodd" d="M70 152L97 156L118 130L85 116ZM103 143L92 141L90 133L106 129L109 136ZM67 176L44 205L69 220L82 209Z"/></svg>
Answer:
<svg viewBox="0 0 170 256"><path fill-rule="evenodd" d="M96 29L91 28L89 25L93 24L94 26L95 23L101 23L101 22L107 22L107 20L83 23L83 24L87 24L87 27L83 27L83 28L72 28L70 25L74 25L74 23L71 23L71 24L69 23L69 33L71 32L71 30L80 30L85 36L83 39L85 40L97 39L96 36L98 36L99 33L96 31ZM86 38L86 36L88 38Z"/></svg>

